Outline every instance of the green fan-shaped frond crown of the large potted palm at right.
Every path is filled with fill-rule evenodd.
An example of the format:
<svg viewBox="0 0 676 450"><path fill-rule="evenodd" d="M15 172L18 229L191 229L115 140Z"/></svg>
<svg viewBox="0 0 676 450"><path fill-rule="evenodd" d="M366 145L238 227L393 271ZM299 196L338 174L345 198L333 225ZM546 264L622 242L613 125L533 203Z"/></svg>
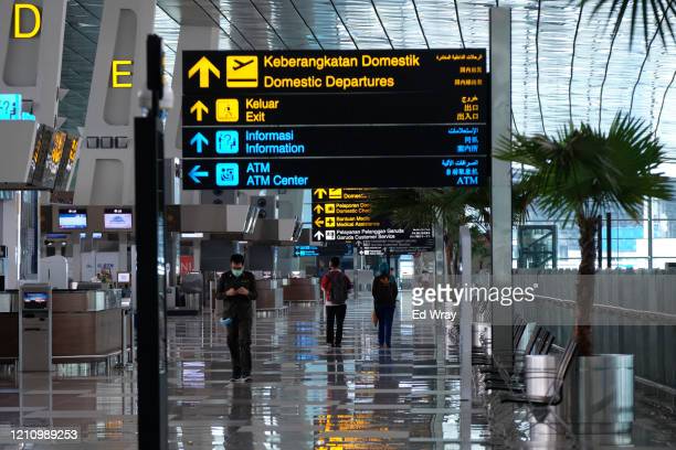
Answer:
<svg viewBox="0 0 676 450"><path fill-rule="evenodd" d="M640 218L646 199L670 199L662 144L642 120L619 114L608 132L582 124L556 137L515 136L497 158L526 164L520 188L549 217L564 225L621 208Z"/></svg>

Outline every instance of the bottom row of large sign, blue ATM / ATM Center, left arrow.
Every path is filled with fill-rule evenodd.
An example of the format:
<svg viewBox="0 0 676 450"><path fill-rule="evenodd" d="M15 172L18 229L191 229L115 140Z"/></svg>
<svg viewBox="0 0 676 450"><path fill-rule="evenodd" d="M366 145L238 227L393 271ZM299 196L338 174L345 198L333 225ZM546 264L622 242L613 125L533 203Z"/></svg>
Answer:
<svg viewBox="0 0 676 450"><path fill-rule="evenodd" d="M293 158L184 160L183 189L477 186L488 162L476 158Z"/></svg>

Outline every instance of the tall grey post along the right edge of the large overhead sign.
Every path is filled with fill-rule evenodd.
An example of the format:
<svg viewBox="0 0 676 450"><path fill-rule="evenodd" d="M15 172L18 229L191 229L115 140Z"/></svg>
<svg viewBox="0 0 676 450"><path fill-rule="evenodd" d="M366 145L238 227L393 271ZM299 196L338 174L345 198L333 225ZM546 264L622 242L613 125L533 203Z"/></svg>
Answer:
<svg viewBox="0 0 676 450"><path fill-rule="evenodd" d="M490 147L511 135L511 11L490 8ZM511 283L511 163L492 158L490 236L493 285ZM493 308L494 354L511 351L511 308Z"/></svg>

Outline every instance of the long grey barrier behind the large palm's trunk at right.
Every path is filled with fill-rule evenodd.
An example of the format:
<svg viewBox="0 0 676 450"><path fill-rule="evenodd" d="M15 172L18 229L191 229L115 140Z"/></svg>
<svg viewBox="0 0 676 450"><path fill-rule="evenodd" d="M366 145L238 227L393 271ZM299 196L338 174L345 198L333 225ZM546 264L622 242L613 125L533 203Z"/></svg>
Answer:
<svg viewBox="0 0 676 450"><path fill-rule="evenodd" d="M595 353L634 354L637 381L676 388L676 276L661 270L604 270L594 277L592 336ZM573 330L578 274L518 270L514 286L537 286L536 300L515 312L568 340Z"/></svg>

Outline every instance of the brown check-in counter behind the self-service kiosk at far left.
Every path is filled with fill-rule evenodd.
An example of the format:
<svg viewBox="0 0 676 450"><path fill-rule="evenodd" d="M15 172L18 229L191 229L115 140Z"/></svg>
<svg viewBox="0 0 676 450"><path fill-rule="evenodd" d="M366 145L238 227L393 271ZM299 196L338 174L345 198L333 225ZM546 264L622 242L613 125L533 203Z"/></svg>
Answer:
<svg viewBox="0 0 676 450"><path fill-rule="evenodd" d="M53 363L78 363L108 357L131 342L131 319L122 307L122 291L53 290L52 291ZM19 296L0 292L0 358L19 355ZM124 326L123 321L126 321Z"/></svg>

